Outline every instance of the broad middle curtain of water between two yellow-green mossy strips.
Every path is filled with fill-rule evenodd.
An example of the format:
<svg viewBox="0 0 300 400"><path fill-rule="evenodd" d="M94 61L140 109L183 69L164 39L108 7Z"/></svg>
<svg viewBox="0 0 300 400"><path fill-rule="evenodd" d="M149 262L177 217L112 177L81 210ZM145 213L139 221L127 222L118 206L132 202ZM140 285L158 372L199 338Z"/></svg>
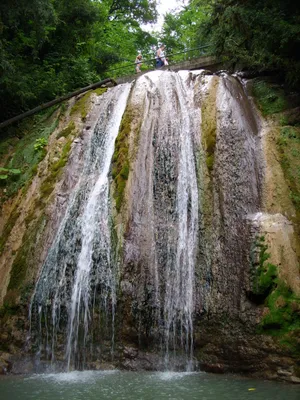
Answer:
<svg viewBox="0 0 300 400"><path fill-rule="evenodd" d="M200 112L188 72L140 78L132 107L142 116L131 182L123 280L133 281L140 342L161 343L165 368L191 368L199 196L195 150ZM140 109L141 108L141 109ZM198 111L198 113L197 113ZM144 172L146 171L146 173ZM126 265L135 271L127 274ZM131 268L131 267L130 267Z"/></svg>

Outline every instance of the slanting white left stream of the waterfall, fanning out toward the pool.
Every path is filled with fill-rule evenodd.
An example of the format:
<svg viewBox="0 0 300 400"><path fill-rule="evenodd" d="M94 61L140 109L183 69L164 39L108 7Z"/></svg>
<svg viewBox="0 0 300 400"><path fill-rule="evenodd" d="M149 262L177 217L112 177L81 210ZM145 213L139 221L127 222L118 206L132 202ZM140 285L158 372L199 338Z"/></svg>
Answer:
<svg viewBox="0 0 300 400"><path fill-rule="evenodd" d="M39 351L45 347L55 361L57 349L64 346L60 336L66 335L68 369L85 364L87 347L95 339L95 322L100 323L103 312L111 316L113 339L117 263L111 251L108 173L129 90L127 84L101 98L83 173L32 299L31 314L35 311L39 321Z"/></svg>

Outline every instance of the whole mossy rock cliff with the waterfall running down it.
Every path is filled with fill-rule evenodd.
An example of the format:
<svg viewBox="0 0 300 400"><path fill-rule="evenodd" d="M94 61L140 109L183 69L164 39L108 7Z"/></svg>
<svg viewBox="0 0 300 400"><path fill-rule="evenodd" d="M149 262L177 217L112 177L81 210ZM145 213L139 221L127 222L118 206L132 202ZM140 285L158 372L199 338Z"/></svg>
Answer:
<svg viewBox="0 0 300 400"><path fill-rule="evenodd" d="M259 80L152 72L3 141L22 175L1 187L2 368L299 382L295 105Z"/></svg>

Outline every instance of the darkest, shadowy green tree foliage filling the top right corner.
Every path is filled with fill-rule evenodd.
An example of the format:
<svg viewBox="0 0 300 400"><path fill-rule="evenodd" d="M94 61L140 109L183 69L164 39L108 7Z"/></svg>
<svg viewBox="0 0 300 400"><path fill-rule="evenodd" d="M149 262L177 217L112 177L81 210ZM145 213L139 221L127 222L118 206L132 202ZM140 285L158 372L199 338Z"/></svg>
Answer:
<svg viewBox="0 0 300 400"><path fill-rule="evenodd" d="M211 14L199 27L199 35L209 37L218 57L231 66L279 72L290 85L300 85L299 2L211 0L209 4Z"/></svg>

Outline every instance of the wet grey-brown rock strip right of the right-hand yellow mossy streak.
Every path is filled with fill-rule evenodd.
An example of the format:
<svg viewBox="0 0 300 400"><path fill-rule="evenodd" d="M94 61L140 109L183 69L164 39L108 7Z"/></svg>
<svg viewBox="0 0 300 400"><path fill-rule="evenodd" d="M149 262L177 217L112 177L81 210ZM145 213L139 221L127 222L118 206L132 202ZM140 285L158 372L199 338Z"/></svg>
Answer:
<svg viewBox="0 0 300 400"><path fill-rule="evenodd" d="M258 126L239 81L222 77L216 99L213 169L211 308L240 313L250 265L247 215L260 209L262 178ZM244 306L246 306L244 304Z"/></svg>

